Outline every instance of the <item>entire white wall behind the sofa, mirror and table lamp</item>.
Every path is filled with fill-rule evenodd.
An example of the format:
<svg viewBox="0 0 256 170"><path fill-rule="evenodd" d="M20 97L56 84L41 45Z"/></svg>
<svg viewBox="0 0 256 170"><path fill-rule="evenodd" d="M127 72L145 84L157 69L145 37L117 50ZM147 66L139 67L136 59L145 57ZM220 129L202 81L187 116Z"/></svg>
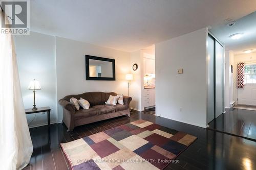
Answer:
<svg viewBox="0 0 256 170"><path fill-rule="evenodd" d="M33 91L27 87L35 78L43 88L36 91L36 106L50 106L51 123L62 120L62 108L57 101L63 96L87 91L128 94L125 74L131 71L130 53L35 32L16 36L15 43L25 108L33 107ZM116 81L86 81L86 54L115 59ZM34 114L27 115L28 123L33 118ZM37 113L30 127L46 124L47 114Z"/></svg>

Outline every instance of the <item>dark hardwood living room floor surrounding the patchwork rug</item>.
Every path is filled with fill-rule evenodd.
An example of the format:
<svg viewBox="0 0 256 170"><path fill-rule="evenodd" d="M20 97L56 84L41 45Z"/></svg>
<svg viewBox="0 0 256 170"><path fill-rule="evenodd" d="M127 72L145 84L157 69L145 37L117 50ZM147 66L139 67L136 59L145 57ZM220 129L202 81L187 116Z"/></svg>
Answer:
<svg viewBox="0 0 256 170"><path fill-rule="evenodd" d="M198 137L177 157L179 163L170 163L165 169L256 169L254 141L134 110L131 117L122 116L76 127L73 132L67 132L63 124L53 124L49 131L47 126L31 128L34 150L30 164L25 169L71 169L59 143L76 140L137 119L145 119Z"/></svg>

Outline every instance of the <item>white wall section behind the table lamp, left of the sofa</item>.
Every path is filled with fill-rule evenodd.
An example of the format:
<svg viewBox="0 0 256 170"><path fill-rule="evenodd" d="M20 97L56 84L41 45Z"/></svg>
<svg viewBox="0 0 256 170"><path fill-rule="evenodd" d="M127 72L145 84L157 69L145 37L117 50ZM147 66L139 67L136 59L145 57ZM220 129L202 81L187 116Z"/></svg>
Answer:
<svg viewBox="0 0 256 170"><path fill-rule="evenodd" d="M31 80L39 81L42 90L36 90L36 106L51 108L51 123L57 120L55 37L30 32L29 36L15 36L20 86L25 108L33 107L33 90L27 87ZM35 114L27 115L28 123ZM30 127L47 124L47 113L37 113Z"/></svg>

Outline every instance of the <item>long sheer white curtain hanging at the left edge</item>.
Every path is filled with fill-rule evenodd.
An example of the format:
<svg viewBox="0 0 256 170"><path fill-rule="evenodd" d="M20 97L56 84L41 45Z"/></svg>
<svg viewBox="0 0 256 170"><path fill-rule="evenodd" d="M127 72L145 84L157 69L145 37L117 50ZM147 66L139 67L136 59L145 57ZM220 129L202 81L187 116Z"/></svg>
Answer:
<svg viewBox="0 0 256 170"><path fill-rule="evenodd" d="M32 152L14 42L10 34L0 33L0 169L22 169Z"/></svg>

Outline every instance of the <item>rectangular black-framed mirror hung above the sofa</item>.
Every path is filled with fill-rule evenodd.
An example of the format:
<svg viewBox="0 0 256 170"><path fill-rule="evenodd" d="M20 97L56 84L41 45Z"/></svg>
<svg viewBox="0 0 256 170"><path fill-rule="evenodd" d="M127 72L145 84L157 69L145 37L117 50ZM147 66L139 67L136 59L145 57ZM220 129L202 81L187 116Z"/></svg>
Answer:
<svg viewBox="0 0 256 170"><path fill-rule="evenodd" d="M116 80L115 59L86 55L86 80Z"/></svg>

